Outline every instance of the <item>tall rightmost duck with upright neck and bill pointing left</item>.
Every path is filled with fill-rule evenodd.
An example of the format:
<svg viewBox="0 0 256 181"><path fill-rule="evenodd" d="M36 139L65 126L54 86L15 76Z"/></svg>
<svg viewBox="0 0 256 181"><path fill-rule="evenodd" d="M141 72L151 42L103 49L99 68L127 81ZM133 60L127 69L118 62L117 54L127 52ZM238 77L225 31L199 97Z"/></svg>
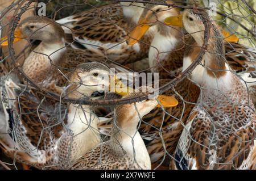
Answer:
<svg viewBox="0 0 256 181"><path fill-rule="evenodd" d="M200 96L186 121L170 167L250 169L255 165L255 107L246 83L230 71L221 29L200 5L185 10L182 18L170 16L165 22L172 26L182 24L194 39L192 45L197 45L185 51L184 70L203 47L204 20L209 24L209 40L203 62L190 76L200 85Z"/></svg>

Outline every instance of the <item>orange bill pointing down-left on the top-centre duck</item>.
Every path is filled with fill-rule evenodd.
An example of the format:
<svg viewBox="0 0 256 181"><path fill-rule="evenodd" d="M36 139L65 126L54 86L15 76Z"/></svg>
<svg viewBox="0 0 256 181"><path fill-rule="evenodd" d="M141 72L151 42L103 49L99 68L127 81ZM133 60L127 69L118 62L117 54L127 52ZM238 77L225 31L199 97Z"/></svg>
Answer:
<svg viewBox="0 0 256 181"><path fill-rule="evenodd" d="M130 39L127 41L128 45L134 45L137 43L143 35L148 31L150 28L150 25L147 24L146 19L140 19L138 22L140 25L135 27L131 32L130 32ZM143 24L144 23L144 24Z"/></svg>

